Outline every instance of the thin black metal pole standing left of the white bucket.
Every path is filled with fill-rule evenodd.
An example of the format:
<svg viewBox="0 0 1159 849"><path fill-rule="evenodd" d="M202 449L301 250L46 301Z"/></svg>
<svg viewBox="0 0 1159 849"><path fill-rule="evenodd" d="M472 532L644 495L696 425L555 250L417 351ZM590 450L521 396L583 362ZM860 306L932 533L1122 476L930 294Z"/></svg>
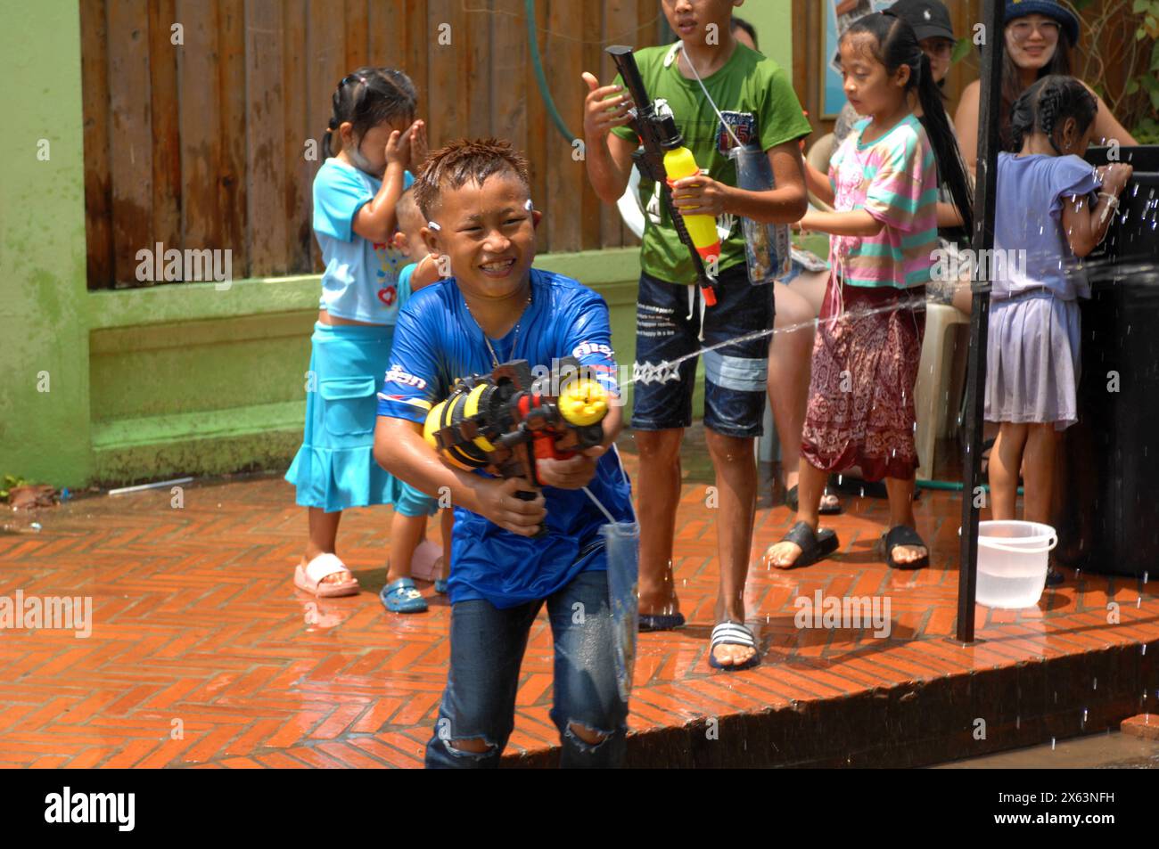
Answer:
<svg viewBox="0 0 1159 849"><path fill-rule="evenodd" d="M994 204L998 186L998 126L1001 119L1003 54L1006 38L1004 2L985 0L982 12L982 90L978 101L978 169L974 196L975 257L989 257L994 247ZM987 251L987 252L982 252ZM978 586L978 508L982 502L982 416L986 397L986 345L990 330L989 262L975 263L971 284L970 365L967 373L965 456L962 463L962 540L957 580L957 641L974 642L974 606Z"/></svg>

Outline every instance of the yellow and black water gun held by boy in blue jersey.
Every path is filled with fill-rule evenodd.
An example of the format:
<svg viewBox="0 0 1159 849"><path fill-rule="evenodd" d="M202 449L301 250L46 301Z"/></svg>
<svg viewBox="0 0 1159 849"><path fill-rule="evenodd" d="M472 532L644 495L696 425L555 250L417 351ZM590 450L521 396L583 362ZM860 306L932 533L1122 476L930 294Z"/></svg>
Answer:
<svg viewBox="0 0 1159 849"><path fill-rule="evenodd" d="M446 401L427 413L423 437L455 468L523 477L541 486L537 460L567 460L603 442L608 409L607 390L582 376L574 357L556 360L547 380L547 391L542 391L527 360L504 363L487 375L460 378ZM535 498L534 492L518 496L529 502ZM540 526L539 535L546 533L546 526Z"/></svg>

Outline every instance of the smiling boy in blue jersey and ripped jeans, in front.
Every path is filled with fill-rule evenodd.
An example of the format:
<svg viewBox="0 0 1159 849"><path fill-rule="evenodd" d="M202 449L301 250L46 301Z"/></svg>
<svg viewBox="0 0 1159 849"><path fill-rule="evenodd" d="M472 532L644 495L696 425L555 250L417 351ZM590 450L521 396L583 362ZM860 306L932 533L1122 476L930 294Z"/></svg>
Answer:
<svg viewBox="0 0 1159 849"><path fill-rule="evenodd" d="M455 379L509 360L551 368L575 357L617 396L607 305L576 280L531 268L541 213L531 208L526 160L509 142L452 142L427 160L414 191L429 221L427 247L453 277L417 292L400 314L374 456L455 505L451 667L427 766L498 766L527 634L545 600L561 766L619 766L627 704L617 686L599 506L632 521L627 477L610 451L619 404L604 419L602 445L539 461L545 486L530 502L516 495L534 489L527 481L450 468L422 436L427 412ZM541 524L548 534L535 539Z"/></svg>

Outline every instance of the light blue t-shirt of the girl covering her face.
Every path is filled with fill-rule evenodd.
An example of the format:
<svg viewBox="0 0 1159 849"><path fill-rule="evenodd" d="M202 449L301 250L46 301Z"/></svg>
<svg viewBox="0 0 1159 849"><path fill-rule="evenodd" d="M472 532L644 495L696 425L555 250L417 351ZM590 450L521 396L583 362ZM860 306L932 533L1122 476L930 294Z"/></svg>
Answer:
<svg viewBox="0 0 1159 849"><path fill-rule="evenodd" d="M403 186L415 182L410 171ZM372 324L394 324L399 316L400 251L353 232L363 204L372 200L382 181L330 158L314 177L314 235L322 249L322 298L319 309Z"/></svg>

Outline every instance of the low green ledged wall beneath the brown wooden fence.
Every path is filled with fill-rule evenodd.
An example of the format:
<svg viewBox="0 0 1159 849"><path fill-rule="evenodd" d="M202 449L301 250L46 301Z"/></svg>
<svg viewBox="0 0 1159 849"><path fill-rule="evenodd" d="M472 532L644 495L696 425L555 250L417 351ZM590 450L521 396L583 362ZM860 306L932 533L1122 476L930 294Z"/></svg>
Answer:
<svg viewBox="0 0 1159 849"><path fill-rule="evenodd" d="M639 251L545 255L535 265L604 295L613 345L630 364ZM302 276L90 293L92 482L289 466L319 287Z"/></svg>

